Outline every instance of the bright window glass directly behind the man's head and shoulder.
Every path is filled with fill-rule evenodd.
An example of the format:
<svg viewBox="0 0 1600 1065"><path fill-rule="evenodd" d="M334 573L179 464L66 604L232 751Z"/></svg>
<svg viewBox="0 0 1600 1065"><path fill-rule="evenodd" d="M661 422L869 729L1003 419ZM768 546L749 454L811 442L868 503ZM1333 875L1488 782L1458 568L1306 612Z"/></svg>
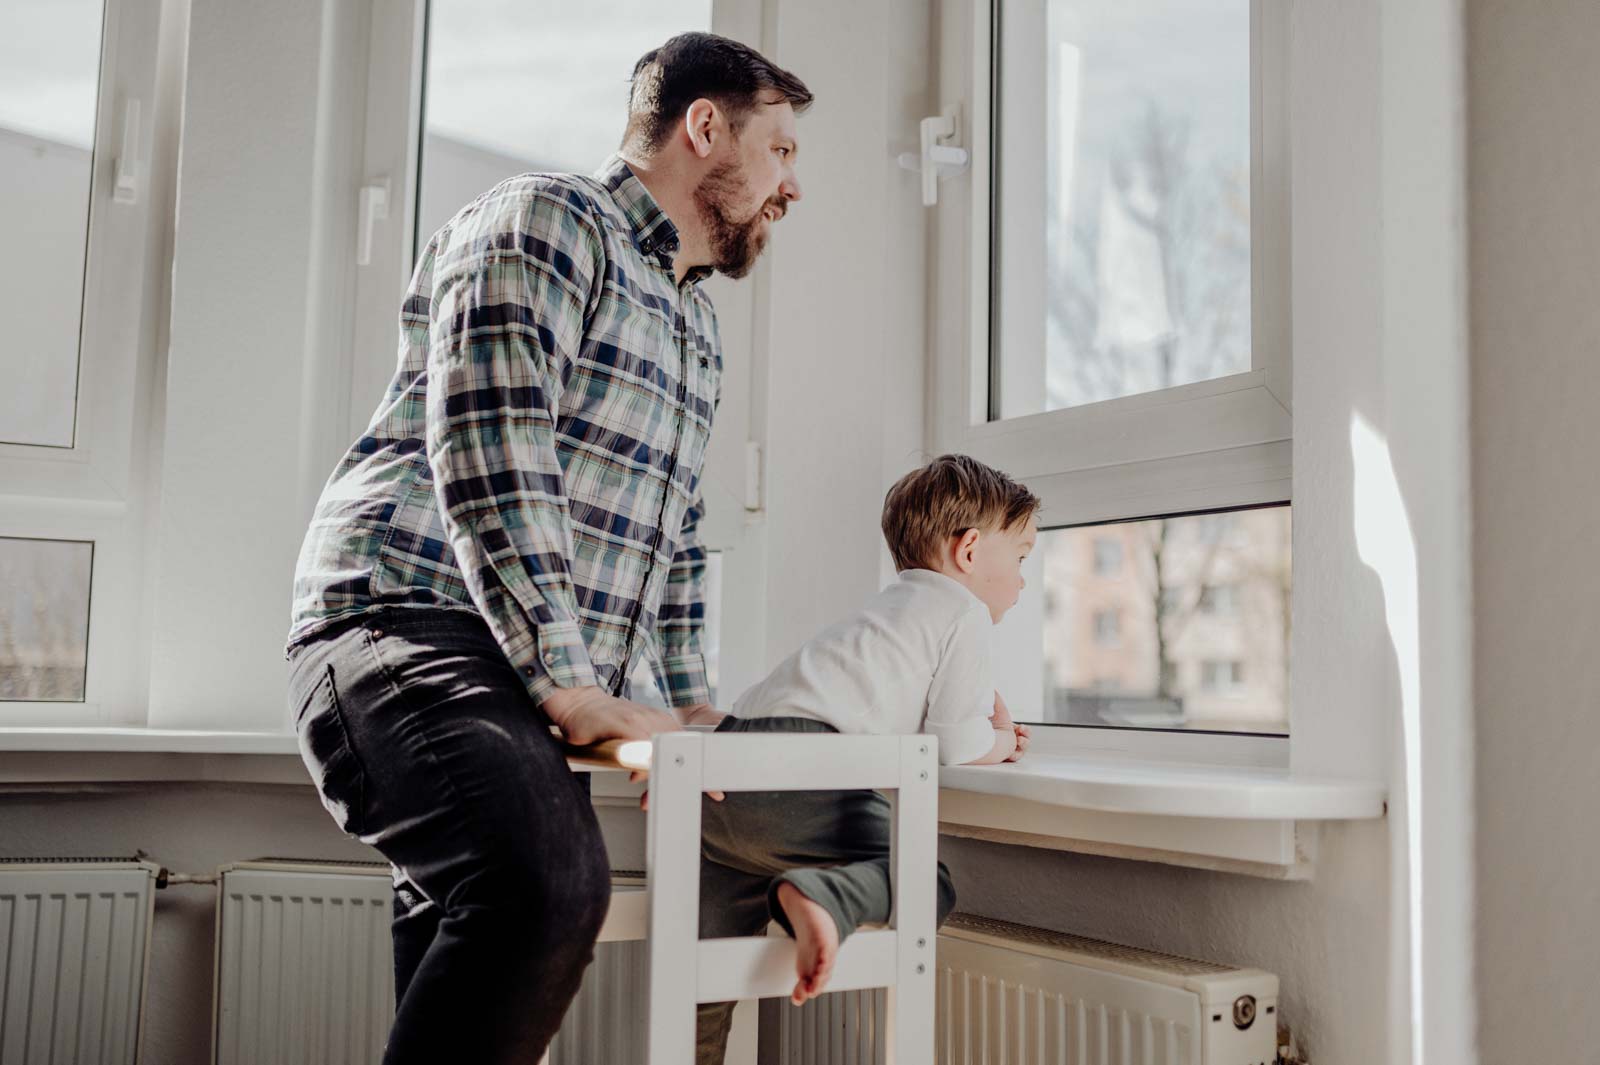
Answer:
<svg viewBox="0 0 1600 1065"><path fill-rule="evenodd" d="M429 0L418 241L514 174L595 171L638 58L709 29L710 0Z"/></svg>

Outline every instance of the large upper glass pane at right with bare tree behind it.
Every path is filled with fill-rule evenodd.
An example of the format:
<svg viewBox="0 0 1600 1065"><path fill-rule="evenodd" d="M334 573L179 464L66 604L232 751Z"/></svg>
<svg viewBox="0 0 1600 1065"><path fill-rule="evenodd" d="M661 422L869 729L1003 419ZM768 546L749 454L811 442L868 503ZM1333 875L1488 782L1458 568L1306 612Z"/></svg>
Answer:
<svg viewBox="0 0 1600 1065"><path fill-rule="evenodd" d="M1250 0L998 19L992 414L1248 371Z"/></svg>

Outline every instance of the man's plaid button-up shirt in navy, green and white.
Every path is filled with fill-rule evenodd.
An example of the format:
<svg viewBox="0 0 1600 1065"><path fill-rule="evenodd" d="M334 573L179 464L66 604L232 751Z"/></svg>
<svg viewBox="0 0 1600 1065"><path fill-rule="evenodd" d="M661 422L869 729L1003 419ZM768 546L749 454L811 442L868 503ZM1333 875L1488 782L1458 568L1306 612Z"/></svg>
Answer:
<svg viewBox="0 0 1600 1065"><path fill-rule="evenodd" d="M706 702L699 478L722 381L698 269L621 158L523 174L429 241L400 366L317 502L290 644L389 606L477 611L534 699L648 656Z"/></svg>

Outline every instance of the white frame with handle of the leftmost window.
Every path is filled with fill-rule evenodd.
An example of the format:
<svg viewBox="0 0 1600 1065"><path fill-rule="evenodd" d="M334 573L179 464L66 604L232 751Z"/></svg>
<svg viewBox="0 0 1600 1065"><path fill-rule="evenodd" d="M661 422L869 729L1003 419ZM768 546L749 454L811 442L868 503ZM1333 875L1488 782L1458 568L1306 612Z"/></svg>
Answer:
<svg viewBox="0 0 1600 1065"><path fill-rule="evenodd" d="M178 78L158 66L178 61L162 6L104 3L72 446L0 443L0 536L94 545L83 700L0 702L0 726L144 723L144 456L154 432L178 128ZM136 160L122 166L134 179L133 203L114 198L125 136Z"/></svg>

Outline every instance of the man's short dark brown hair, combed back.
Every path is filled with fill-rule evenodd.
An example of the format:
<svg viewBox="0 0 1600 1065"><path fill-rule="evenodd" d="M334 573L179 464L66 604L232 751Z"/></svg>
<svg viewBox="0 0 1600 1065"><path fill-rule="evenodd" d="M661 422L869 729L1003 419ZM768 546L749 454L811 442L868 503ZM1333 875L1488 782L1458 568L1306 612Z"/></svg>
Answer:
<svg viewBox="0 0 1600 1065"><path fill-rule="evenodd" d="M749 45L715 34L678 34L634 64L622 150L653 155L701 98L717 104L739 136L752 110L763 102L782 102L763 99L768 93L779 94L797 112L813 99L805 82Z"/></svg>

